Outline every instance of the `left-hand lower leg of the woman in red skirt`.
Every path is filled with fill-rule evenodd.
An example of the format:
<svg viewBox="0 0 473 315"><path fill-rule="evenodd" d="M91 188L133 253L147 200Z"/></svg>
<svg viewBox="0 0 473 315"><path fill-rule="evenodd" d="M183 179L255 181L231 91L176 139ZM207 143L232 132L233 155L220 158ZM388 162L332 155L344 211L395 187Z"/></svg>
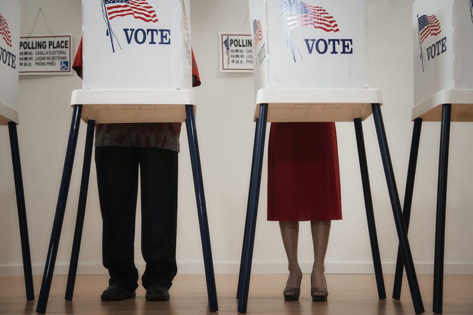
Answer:
<svg viewBox="0 0 473 315"><path fill-rule="evenodd" d="M297 221L279 221L281 229L282 242L286 250L289 277L286 287L299 287L301 283L301 273L299 262L297 260L297 243L299 239L299 222Z"/></svg>

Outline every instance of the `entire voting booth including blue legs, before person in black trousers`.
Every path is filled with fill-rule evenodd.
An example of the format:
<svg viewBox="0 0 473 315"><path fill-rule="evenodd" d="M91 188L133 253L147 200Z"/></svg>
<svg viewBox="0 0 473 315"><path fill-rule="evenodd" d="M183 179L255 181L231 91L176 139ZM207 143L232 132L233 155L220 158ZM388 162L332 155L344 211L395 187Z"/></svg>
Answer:
<svg viewBox="0 0 473 315"><path fill-rule="evenodd" d="M72 300L96 123L186 122L209 310L218 311L192 87L189 0L147 0L141 10L83 0L83 89L72 92L68 148L36 312L45 313L81 118L87 122L66 300Z"/></svg>

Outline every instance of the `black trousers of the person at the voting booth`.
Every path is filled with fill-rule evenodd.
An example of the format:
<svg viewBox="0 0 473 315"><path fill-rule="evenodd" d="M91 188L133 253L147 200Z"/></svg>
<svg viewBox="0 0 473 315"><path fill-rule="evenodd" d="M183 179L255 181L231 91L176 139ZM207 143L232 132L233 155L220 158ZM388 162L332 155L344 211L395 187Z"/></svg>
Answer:
<svg viewBox="0 0 473 315"><path fill-rule="evenodd" d="M145 288L171 286L177 273L177 156L156 148L96 148L103 266L110 274L109 284L138 287L134 243L139 168L141 253L146 262L141 282Z"/></svg>

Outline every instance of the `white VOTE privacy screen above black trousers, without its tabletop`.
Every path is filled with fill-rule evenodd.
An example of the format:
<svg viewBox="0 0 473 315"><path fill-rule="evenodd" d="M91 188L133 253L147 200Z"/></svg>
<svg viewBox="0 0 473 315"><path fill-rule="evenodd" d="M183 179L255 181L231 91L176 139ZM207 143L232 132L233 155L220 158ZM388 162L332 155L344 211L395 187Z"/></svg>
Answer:
<svg viewBox="0 0 473 315"><path fill-rule="evenodd" d="M189 0L83 0L84 89L190 89Z"/></svg>

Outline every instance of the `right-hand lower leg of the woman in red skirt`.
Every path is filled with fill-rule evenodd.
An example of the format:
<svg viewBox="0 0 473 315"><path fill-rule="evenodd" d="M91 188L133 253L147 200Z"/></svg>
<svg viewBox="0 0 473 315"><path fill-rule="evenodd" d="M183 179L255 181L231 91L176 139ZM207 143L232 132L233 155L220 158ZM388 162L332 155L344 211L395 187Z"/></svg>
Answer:
<svg viewBox="0 0 473 315"><path fill-rule="evenodd" d="M312 287L327 287L324 278L325 253L329 244L330 226L332 221L311 221L312 242L314 244L314 265L310 282ZM317 292L316 295L324 295Z"/></svg>

